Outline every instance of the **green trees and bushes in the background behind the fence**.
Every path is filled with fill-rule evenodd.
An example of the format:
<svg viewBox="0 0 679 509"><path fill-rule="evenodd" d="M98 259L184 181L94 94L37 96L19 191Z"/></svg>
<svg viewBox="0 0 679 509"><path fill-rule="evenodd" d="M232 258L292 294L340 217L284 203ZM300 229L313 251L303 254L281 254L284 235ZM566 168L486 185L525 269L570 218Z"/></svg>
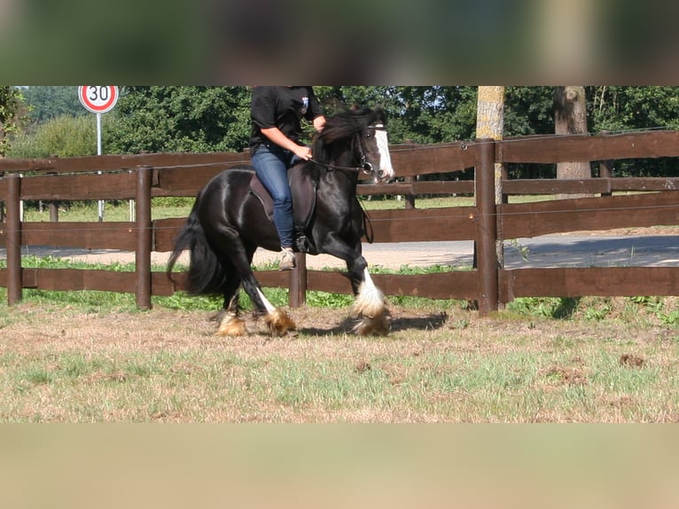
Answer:
<svg viewBox="0 0 679 509"><path fill-rule="evenodd" d="M0 88L2 110L8 100L3 93L20 91ZM81 126L74 115L89 119L77 103L77 87L28 87L23 89L26 106L37 130L18 137L11 157L94 153L96 142L82 139ZM381 105L389 119L393 144L413 141L435 144L473 140L476 136L477 88L471 86L317 86L316 95L326 114L338 108ZM504 136L552 134L554 132L553 87L506 87ZM589 86L588 126L590 132L629 129L679 129L679 89L677 87ZM13 100L14 100L13 99ZM17 110L16 100L12 111ZM231 86L132 86L121 87L118 106L103 116L104 153L216 152L241 151L250 133L250 90ZM60 116L69 119L60 123ZM57 122L59 135L47 135L47 122ZM71 124L70 122L74 122ZM15 129L15 128L12 128ZM73 129L74 139L66 136ZM310 135L310 127L309 135ZM15 129L16 130L16 129ZM94 128L90 129L92 132ZM0 131L1 132L1 131ZM94 137L94 134L91 134ZM2 136L0 136L2 144ZM2 146L0 146L2 153ZM554 165L511 164L512 177L552 177ZM618 161L620 176L679 175L675 159ZM457 174L459 175L459 174ZM443 176L445 178L445 176Z"/></svg>

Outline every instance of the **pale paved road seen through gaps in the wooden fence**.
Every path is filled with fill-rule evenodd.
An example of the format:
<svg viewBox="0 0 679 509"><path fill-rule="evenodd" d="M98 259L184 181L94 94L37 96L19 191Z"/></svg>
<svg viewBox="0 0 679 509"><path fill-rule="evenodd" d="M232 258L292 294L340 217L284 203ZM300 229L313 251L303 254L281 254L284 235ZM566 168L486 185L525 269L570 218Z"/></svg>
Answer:
<svg viewBox="0 0 679 509"><path fill-rule="evenodd" d="M25 246L24 255L55 256L89 262L134 262L134 253L107 249L63 249ZM473 244L457 242L402 242L398 244L365 244L363 255L371 265L398 269L402 265L472 265ZM258 251L254 263L276 260L277 254ZM0 260L6 258L0 249ZM167 253L154 253L152 262L164 264ZM342 268L344 263L327 255L309 256L308 267ZM679 266L679 237L650 236L581 236L546 235L535 239L518 239L504 245L507 269L546 267L632 267Z"/></svg>

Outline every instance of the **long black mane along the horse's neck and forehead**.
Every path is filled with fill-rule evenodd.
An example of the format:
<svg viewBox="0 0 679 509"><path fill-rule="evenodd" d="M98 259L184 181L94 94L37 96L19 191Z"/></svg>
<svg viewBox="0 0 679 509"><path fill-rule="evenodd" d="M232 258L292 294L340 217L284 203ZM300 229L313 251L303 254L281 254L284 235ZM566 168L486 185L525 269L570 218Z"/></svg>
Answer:
<svg viewBox="0 0 679 509"><path fill-rule="evenodd" d="M386 122L384 110L377 106L375 109L358 108L339 111L325 119L323 130L314 138L312 153L316 161L327 162L330 148L333 144L354 137L366 127Z"/></svg>

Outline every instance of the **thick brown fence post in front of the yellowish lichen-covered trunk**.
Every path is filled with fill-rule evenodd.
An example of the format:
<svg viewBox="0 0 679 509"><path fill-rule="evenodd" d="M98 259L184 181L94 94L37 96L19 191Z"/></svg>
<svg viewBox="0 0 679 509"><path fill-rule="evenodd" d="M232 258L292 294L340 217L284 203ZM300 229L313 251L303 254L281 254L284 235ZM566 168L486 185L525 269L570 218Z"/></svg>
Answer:
<svg viewBox="0 0 679 509"><path fill-rule="evenodd" d="M497 206L495 185L496 142L478 139L474 183L478 218L479 312L488 315L498 308Z"/></svg>

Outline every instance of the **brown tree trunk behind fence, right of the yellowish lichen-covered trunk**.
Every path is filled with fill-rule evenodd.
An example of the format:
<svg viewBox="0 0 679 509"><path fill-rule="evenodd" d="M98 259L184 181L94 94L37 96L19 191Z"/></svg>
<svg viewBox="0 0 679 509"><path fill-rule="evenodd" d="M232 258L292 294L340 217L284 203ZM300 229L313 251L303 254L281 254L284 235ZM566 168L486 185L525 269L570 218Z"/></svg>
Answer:
<svg viewBox="0 0 679 509"><path fill-rule="evenodd" d="M558 135L587 134L587 103L584 87L554 88L554 127ZM569 161L557 164L557 178L590 178L589 161ZM558 199L589 196L558 195Z"/></svg>

